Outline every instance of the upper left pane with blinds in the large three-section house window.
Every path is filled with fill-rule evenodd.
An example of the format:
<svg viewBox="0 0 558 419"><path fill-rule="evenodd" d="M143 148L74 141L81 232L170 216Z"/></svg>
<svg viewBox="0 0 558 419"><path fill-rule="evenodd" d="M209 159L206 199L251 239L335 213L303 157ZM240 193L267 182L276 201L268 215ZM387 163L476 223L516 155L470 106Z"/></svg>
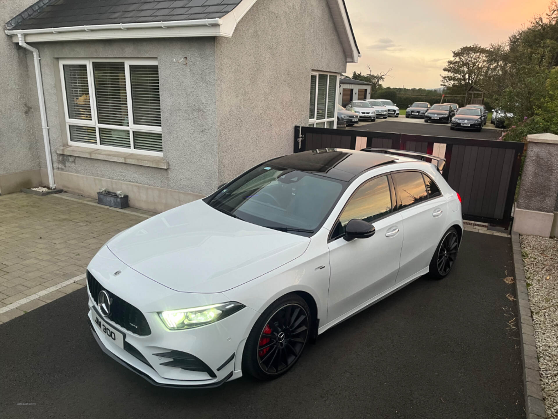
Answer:
<svg viewBox="0 0 558 419"><path fill-rule="evenodd" d="M91 121L87 66L85 64L64 65L64 81L68 116L76 120Z"/></svg>

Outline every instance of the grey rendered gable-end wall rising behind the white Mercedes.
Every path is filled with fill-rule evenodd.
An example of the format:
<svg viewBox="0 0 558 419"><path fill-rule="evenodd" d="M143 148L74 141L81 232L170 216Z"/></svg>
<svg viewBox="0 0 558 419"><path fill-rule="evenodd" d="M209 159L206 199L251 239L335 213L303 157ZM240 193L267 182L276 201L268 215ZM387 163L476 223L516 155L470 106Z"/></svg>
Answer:
<svg viewBox="0 0 558 419"><path fill-rule="evenodd" d="M220 183L292 153L295 125L308 125L311 70L347 69L326 0L258 0L216 55Z"/></svg>

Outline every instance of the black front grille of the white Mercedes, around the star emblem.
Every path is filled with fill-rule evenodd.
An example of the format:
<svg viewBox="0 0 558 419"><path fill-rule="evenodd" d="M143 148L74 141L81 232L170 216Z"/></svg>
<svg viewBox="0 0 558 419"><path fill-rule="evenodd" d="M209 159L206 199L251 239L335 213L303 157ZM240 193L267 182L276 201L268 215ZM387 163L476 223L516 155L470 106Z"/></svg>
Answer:
<svg viewBox="0 0 558 419"><path fill-rule="evenodd" d="M110 298L112 298L110 302L110 315L108 316L109 320L112 320L118 326L125 328L133 334L140 336L151 335L151 328L143 313L132 306L132 304L114 295L108 289L105 289L89 271L87 271L87 285L95 304L98 303L99 292L103 289L107 291Z"/></svg>

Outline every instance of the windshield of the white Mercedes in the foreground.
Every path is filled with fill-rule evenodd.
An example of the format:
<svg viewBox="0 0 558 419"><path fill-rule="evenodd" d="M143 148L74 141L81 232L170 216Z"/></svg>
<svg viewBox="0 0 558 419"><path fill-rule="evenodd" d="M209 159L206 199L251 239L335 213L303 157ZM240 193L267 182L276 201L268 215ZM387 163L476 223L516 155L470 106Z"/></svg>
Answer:
<svg viewBox="0 0 558 419"><path fill-rule="evenodd" d="M259 226L309 236L328 216L344 186L340 180L262 164L206 202Z"/></svg>

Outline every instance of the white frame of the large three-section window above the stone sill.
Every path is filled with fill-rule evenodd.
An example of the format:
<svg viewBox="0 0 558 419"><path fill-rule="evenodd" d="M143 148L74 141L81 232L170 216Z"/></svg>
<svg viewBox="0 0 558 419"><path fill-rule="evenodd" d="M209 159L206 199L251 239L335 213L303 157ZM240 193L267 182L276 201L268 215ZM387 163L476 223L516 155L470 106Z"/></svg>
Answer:
<svg viewBox="0 0 558 419"><path fill-rule="evenodd" d="M128 102L128 126L120 125L109 125L105 123L99 123L97 121L97 99L95 98L95 88L94 88L94 78L93 78L93 63L104 62L104 63L124 63L124 74L126 76L126 98ZM89 84L89 103L91 107L91 120L75 120L69 117L68 112L68 97L66 96L66 80L64 78L64 65L86 65L87 66L87 78ZM68 145L75 145L78 147L89 147L93 149L100 150L113 150L121 151L122 153L135 153L144 154L150 156L162 156L163 153L159 151L149 151L149 150L136 150L134 149L134 138L133 131L140 132L152 132L161 134L161 127L151 126L151 125L137 125L134 123L133 108L132 108L132 84L130 78L130 66L131 65L157 65L157 60L126 60L119 58L94 58L85 60L59 60L60 66L60 79L62 84L62 99L64 100L64 116L66 122L66 135L68 138ZM95 127L95 132L97 132L97 144L87 144L85 142L72 141L70 137L70 125L81 125ZM110 128L113 130L128 131L130 136L130 148L124 147L114 147L108 145L100 144L99 128Z"/></svg>

